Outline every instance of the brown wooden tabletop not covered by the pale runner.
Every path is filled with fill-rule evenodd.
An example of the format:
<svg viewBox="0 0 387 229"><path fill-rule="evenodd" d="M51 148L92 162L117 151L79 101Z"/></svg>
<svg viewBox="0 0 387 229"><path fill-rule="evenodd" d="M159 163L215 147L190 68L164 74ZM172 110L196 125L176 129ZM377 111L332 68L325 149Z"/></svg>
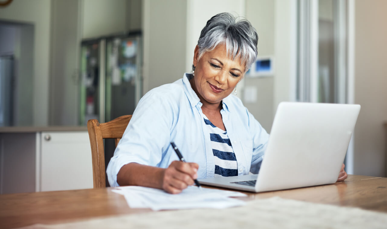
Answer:
<svg viewBox="0 0 387 229"><path fill-rule="evenodd" d="M122 195L113 188L47 191L0 195L0 228L31 224L57 224L86 220L98 216L114 216L149 212L129 208ZM348 175L344 182L265 193L246 193L244 199L280 196L313 203L360 207L387 213L387 178Z"/></svg>

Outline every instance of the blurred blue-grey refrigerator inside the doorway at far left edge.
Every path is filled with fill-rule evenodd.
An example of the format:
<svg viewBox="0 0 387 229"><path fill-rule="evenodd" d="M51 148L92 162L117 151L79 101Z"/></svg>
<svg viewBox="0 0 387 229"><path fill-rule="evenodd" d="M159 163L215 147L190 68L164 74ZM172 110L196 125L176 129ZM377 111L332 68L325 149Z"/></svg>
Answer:
<svg viewBox="0 0 387 229"><path fill-rule="evenodd" d="M0 126L13 126L14 57L0 56Z"/></svg>

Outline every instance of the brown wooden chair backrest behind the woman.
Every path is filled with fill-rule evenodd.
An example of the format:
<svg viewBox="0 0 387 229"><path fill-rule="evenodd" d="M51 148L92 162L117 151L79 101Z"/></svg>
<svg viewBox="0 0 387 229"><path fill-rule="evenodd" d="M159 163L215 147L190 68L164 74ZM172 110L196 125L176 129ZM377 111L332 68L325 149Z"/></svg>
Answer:
<svg viewBox="0 0 387 229"><path fill-rule="evenodd" d="M131 118L132 115L123 115L105 123L99 123L97 119L87 121L93 164L94 188L106 187L103 139L114 138L117 146Z"/></svg>

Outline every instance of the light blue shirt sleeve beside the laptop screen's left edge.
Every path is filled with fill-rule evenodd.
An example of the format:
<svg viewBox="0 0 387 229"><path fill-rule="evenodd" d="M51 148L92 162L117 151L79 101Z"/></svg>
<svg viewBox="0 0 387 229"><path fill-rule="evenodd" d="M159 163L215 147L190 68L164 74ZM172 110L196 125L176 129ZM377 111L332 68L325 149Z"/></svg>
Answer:
<svg viewBox="0 0 387 229"><path fill-rule="evenodd" d="M247 110L247 109L246 109ZM265 154L267 142L269 141L269 134L261 126L261 124L254 118L254 116L248 112L248 125L250 128L250 134L253 139L253 154L251 160L250 172L253 174L259 173L261 163Z"/></svg>

